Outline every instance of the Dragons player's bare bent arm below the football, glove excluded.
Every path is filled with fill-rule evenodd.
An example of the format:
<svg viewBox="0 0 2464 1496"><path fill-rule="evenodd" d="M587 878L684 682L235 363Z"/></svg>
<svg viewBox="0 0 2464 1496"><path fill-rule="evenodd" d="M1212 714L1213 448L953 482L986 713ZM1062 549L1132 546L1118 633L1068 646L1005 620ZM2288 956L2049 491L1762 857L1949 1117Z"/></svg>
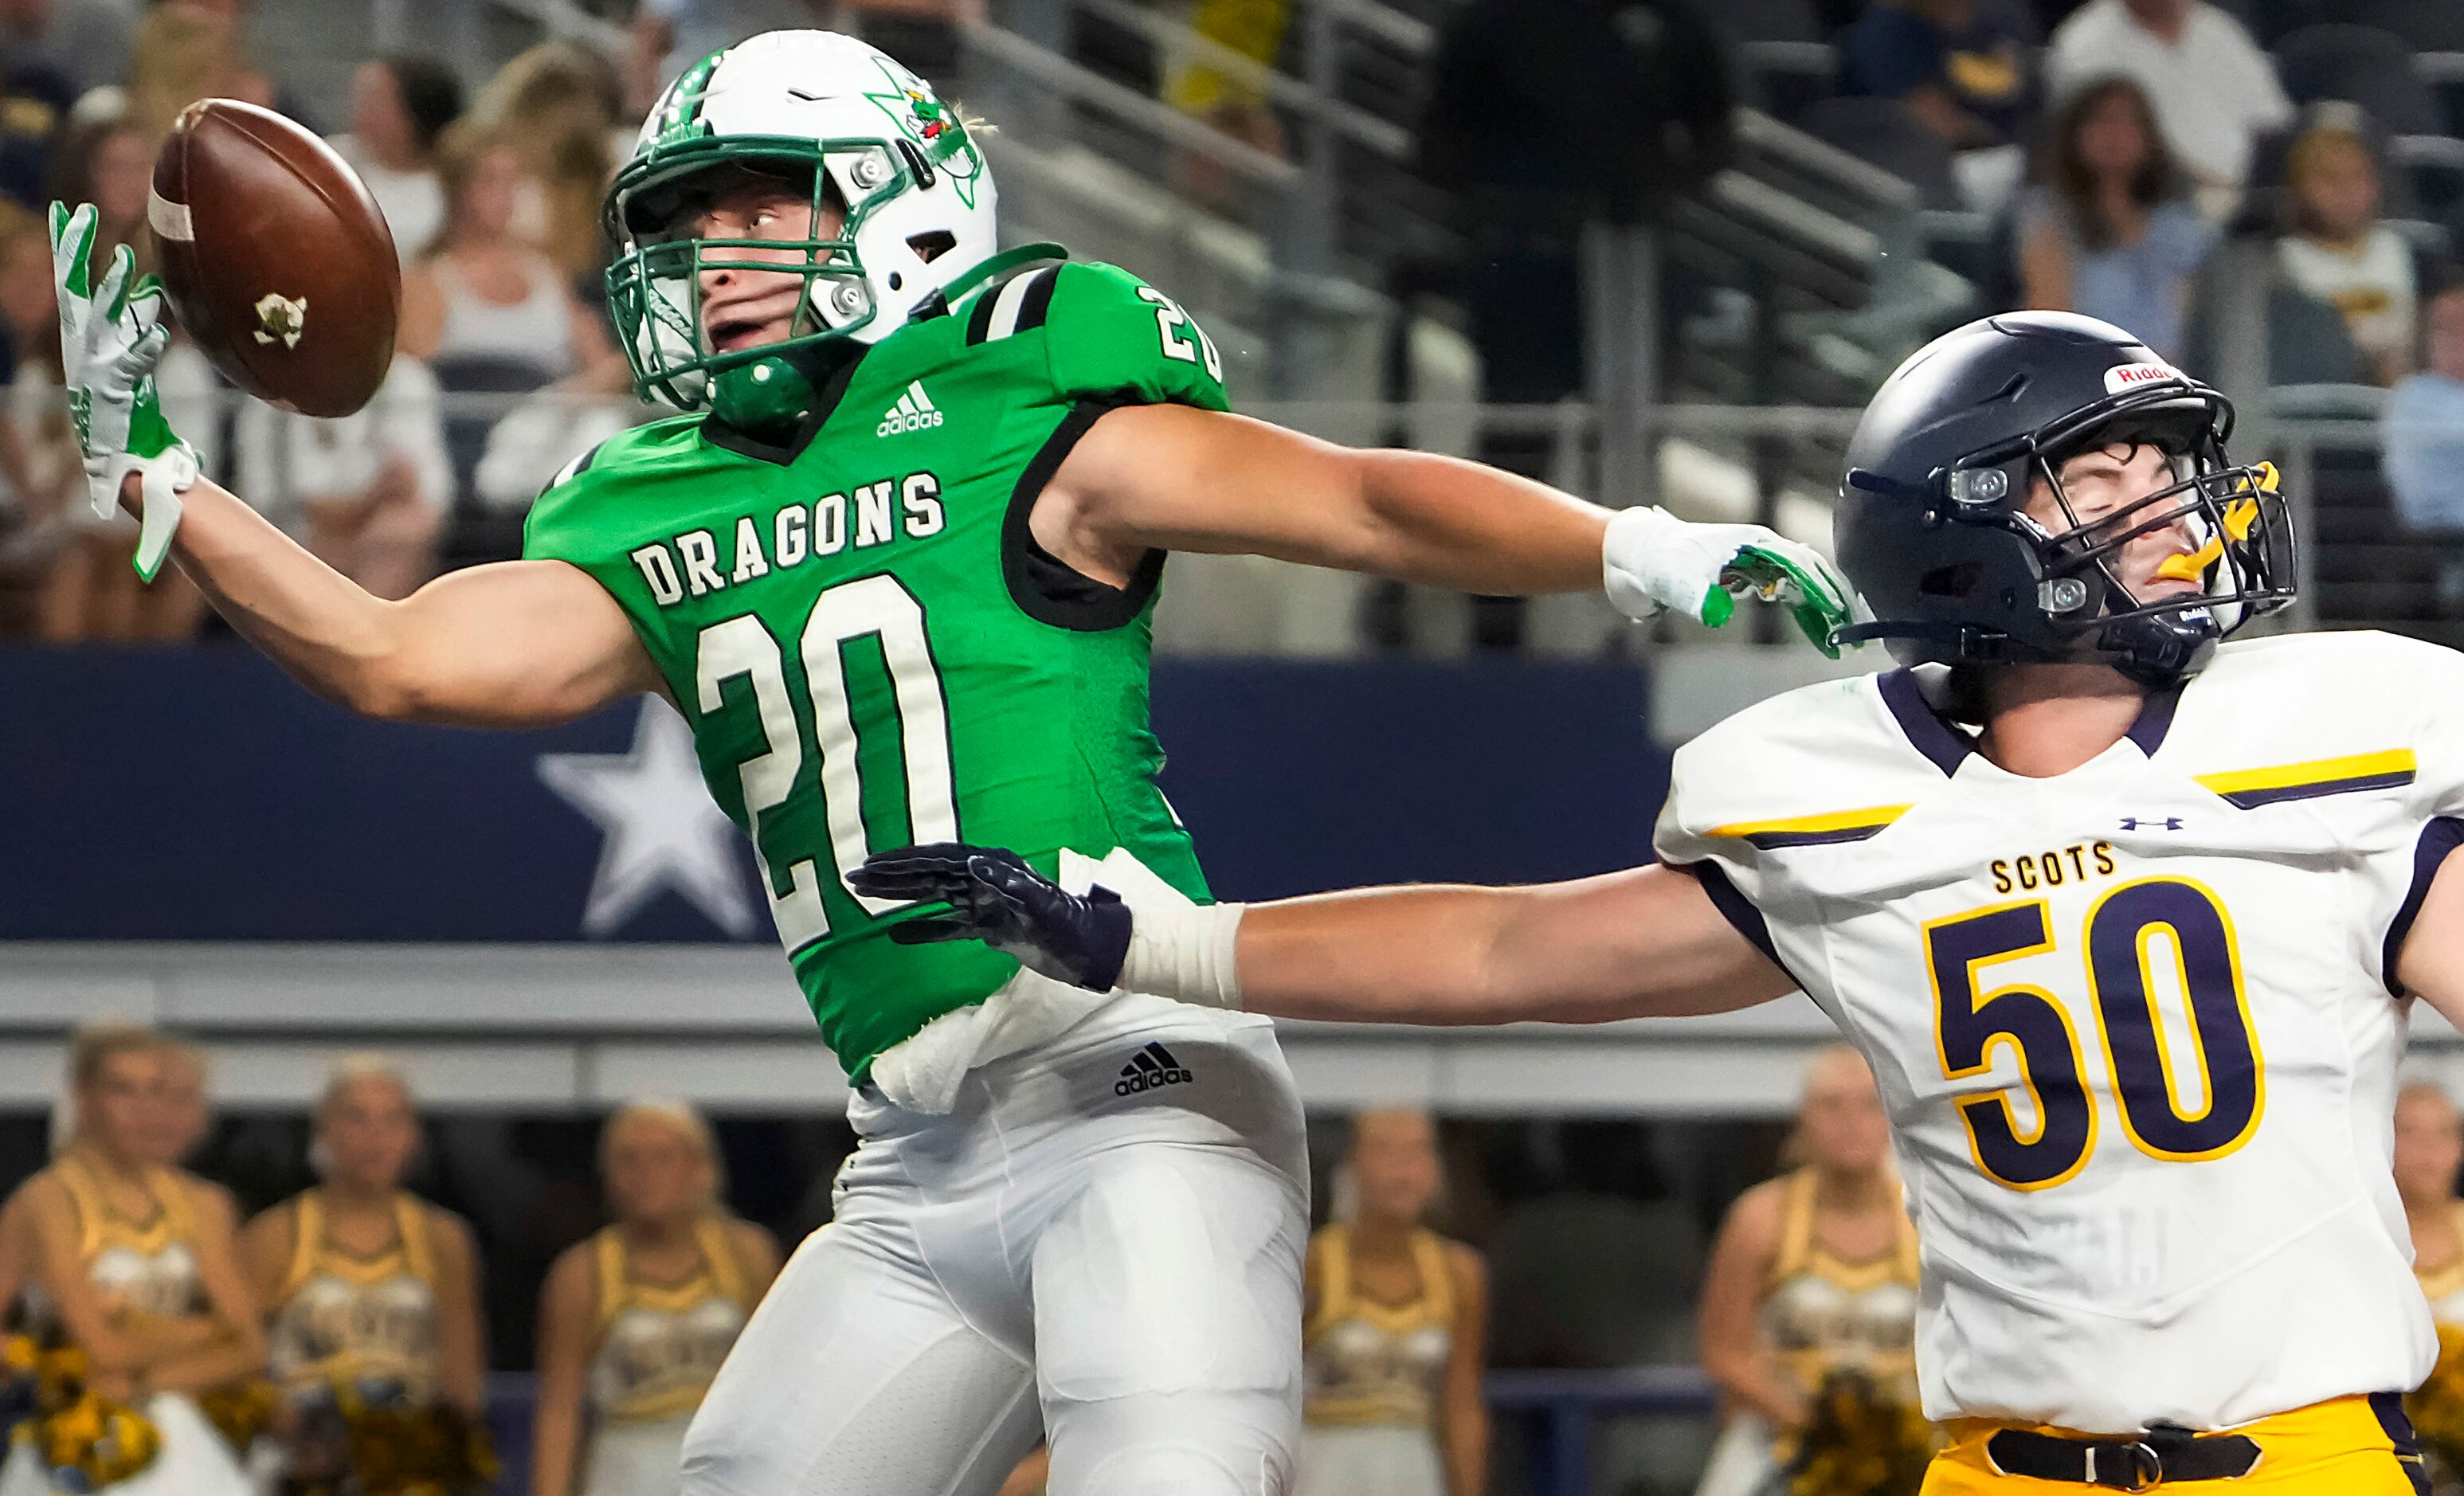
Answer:
<svg viewBox="0 0 2464 1496"><path fill-rule="evenodd" d="M136 476L123 495L136 503ZM232 628L355 712L547 727L660 690L616 599L579 567L498 562L384 601L214 483L182 500L180 569Z"/></svg>

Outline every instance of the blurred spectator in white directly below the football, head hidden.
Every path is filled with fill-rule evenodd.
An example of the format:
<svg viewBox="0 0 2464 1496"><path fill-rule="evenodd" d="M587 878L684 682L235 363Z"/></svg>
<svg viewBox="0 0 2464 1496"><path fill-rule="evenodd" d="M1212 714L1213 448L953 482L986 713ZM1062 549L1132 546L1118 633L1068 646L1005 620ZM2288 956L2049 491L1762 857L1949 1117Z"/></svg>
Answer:
<svg viewBox="0 0 2464 1496"><path fill-rule="evenodd" d="M232 449L266 518L367 591L402 599L436 574L453 466L436 377L416 357L397 352L375 399L340 419L251 399Z"/></svg>

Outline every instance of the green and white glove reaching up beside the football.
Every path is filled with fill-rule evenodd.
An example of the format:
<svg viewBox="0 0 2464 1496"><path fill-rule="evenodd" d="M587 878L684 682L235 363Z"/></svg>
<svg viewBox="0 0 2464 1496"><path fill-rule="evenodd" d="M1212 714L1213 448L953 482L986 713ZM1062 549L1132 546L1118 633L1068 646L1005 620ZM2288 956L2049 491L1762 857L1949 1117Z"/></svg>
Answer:
<svg viewBox="0 0 2464 1496"><path fill-rule="evenodd" d="M52 283L59 288L59 367L69 387L69 419L86 458L86 498L108 520L121 505L121 478L143 478L136 569L145 582L163 569L180 527L180 493L197 481L197 451L163 419L153 367L170 343L163 325L163 283L136 274L121 244L111 269L94 278L91 202L69 212L52 205Z"/></svg>

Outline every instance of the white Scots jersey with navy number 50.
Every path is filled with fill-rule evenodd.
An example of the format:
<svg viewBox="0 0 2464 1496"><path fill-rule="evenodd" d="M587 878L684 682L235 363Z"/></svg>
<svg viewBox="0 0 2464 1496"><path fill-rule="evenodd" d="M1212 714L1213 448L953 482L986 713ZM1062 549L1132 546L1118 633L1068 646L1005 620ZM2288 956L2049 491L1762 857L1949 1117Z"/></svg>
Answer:
<svg viewBox="0 0 2464 1496"><path fill-rule="evenodd" d="M1873 1062L1922 1250L1924 1412L2131 1432L2410 1390L2397 949L2464 840L2464 656L2227 643L2057 779L1937 668L1676 757L1658 853Z"/></svg>

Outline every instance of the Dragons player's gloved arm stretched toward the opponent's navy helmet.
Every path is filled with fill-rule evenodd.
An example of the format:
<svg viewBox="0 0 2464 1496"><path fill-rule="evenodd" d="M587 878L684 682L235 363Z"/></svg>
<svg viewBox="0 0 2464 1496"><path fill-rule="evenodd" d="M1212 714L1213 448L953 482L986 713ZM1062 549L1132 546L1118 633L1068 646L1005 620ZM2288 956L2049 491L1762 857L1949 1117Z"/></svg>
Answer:
<svg viewBox="0 0 2464 1496"><path fill-rule="evenodd" d="M1264 555L1486 594L1594 591L1629 619L1730 616L1730 591L1789 604L1831 648L1848 584L1759 525L1604 510L1545 483L1422 451L1355 451L1183 404L1104 414L1030 515L1037 545L1121 584L1151 550Z"/></svg>

